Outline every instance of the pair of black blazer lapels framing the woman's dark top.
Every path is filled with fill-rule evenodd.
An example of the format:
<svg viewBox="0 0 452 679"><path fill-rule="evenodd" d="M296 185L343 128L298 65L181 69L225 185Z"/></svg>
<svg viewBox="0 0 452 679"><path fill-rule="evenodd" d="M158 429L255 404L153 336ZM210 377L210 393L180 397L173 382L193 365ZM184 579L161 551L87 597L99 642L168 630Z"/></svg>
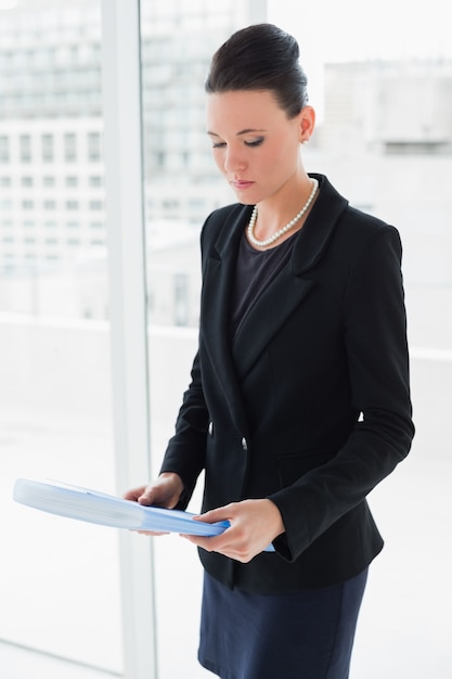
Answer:
<svg viewBox="0 0 452 679"><path fill-rule="evenodd" d="M309 270L322 257L348 205L325 177L313 176L320 181L321 192L296 240L292 257L249 310L233 347L229 324L231 291L238 243L251 208L236 205L227 216L219 210L211 219L220 223L207 225L201 338L231 417L243 433L246 433L246 418L240 381L313 287ZM217 233L212 242L210 231Z"/></svg>

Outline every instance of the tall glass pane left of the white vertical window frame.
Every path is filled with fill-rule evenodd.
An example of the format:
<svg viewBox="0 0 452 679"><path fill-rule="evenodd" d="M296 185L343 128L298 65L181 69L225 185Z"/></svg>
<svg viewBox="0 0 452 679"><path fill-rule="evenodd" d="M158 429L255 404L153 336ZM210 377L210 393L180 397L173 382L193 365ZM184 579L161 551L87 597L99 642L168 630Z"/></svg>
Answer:
<svg viewBox="0 0 452 679"><path fill-rule="evenodd" d="M12 502L18 477L115 488L101 5L15 5L0 4L0 640L119 672L115 531Z"/></svg>

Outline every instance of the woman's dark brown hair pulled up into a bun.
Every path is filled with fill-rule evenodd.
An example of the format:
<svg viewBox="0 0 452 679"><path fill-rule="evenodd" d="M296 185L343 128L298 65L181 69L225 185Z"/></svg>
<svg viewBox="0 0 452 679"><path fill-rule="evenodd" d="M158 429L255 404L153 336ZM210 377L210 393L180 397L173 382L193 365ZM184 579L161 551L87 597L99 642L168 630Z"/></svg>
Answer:
<svg viewBox="0 0 452 679"><path fill-rule="evenodd" d="M209 94L271 91L293 118L308 103L307 85L296 39L273 24L255 24L234 33L217 50L205 88Z"/></svg>

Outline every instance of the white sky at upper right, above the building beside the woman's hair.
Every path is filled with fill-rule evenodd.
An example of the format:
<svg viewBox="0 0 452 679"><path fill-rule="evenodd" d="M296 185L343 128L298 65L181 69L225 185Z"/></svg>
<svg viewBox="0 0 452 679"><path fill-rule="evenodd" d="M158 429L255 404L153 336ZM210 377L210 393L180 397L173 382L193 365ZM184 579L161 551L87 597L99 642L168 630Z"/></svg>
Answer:
<svg viewBox="0 0 452 679"><path fill-rule="evenodd" d="M268 0L269 21L298 40L319 120L325 63L452 60L448 7L450 0Z"/></svg>

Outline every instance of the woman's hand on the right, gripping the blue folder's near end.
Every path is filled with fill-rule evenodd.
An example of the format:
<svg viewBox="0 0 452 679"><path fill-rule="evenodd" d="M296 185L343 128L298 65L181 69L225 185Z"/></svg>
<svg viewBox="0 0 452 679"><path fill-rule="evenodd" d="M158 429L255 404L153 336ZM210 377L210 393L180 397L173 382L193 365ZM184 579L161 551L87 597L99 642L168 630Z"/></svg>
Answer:
<svg viewBox="0 0 452 679"><path fill-rule="evenodd" d="M183 536L208 552L248 563L260 554L276 536L284 533L280 510L271 500L243 500L196 516L209 524L229 521L231 526L214 537Z"/></svg>

